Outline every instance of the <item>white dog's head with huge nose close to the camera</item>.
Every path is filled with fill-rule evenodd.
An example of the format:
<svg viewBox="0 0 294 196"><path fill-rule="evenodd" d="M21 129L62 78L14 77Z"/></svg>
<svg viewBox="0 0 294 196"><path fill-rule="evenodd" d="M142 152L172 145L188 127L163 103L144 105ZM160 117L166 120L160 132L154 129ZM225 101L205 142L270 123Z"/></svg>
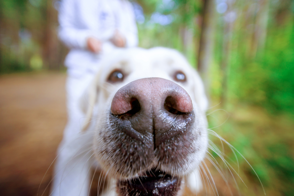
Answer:
<svg viewBox="0 0 294 196"><path fill-rule="evenodd" d="M120 195L178 195L207 148L198 73L167 48L119 49L101 67L85 107L90 117L97 102L98 163Z"/></svg>

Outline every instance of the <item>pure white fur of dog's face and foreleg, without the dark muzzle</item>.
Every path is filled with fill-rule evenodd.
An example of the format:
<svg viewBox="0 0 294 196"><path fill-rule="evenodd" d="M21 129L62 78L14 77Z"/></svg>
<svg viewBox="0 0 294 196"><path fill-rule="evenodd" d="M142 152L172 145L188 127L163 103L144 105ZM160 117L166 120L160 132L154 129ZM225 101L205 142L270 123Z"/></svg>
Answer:
<svg viewBox="0 0 294 196"><path fill-rule="evenodd" d="M126 74L125 80L117 84L107 83L109 74L116 68L124 71ZM201 148L197 156L190 157L193 164L187 165L187 169L182 171L181 175L185 176L185 184L191 191L197 192L197 190L200 190L202 184L197 168L203 160L207 148L205 112L208 107L201 78L191 68L186 59L175 50L129 48L117 49L111 56L102 60L101 69L86 93L81 97L81 107L86 116L85 123L81 124L81 127L85 131L81 131L70 141L64 140L61 143L51 195L87 196L92 179L89 171L91 167L96 168L96 166L102 167L101 169L105 171L104 175L107 173L111 179L107 182L108 189L103 192L103 195L115 195L115 178L118 176L113 174L109 164L102 163L103 160L100 157L94 158L94 154L97 155L95 150L99 148L97 145L101 145L99 138L97 138L99 137L98 132L103 131L103 126L107 124L106 115L109 112L114 94L122 86L140 78L160 77L173 81L173 73L178 70L186 74L187 82L175 82L190 95L194 111L203 128L200 138ZM181 191L179 194L181 194Z"/></svg>

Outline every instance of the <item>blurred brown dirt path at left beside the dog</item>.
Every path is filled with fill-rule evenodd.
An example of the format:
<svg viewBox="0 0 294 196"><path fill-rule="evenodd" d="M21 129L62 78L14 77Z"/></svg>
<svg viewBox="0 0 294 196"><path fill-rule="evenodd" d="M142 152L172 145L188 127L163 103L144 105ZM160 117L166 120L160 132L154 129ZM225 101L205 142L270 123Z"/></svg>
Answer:
<svg viewBox="0 0 294 196"><path fill-rule="evenodd" d="M37 194L66 124L65 79L65 73L0 76L0 195Z"/></svg>

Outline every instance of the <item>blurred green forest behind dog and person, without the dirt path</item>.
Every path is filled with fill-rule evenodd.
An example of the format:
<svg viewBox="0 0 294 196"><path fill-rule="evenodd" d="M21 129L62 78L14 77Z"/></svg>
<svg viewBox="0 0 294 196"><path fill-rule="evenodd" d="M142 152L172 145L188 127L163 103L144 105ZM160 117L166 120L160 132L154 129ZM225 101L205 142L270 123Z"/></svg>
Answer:
<svg viewBox="0 0 294 196"><path fill-rule="evenodd" d="M202 166L208 195L294 195L294 1L131 2L139 46L176 48L205 83L216 144L206 160L212 175ZM68 49L56 33L59 4L0 1L2 76L65 72Z"/></svg>

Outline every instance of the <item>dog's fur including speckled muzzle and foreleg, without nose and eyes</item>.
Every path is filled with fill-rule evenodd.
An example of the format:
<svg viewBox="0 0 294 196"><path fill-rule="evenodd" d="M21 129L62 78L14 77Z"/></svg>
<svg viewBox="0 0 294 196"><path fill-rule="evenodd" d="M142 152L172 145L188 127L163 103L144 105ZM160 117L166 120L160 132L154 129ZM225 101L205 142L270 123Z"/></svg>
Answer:
<svg viewBox="0 0 294 196"><path fill-rule="evenodd" d="M123 81L108 81L114 70L123 73ZM186 75L186 81L175 80L175 73L178 71ZM175 82L191 97L195 121L192 122L188 135L185 135L188 138L184 145L188 147L185 149L174 146L174 143L183 142L185 137L182 135L175 135L166 140L164 145L151 149L146 145L148 138L140 142L113 128L111 103L116 92L132 81L153 77ZM179 52L167 48L117 49L111 56L102 60L101 69L85 96L81 98L81 108L86 116L84 131L70 142L61 145L56 173L62 174L57 174L54 179L53 195L88 195L91 184L91 176L88 173L93 165L110 179L105 182L107 186L105 185L105 191L102 193L107 196L144 195L131 193L125 189L126 184L146 175L152 168L178 179L178 187L169 190L173 192L172 195L181 195L184 185L196 191L201 186L197 177L198 165L205 156L208 143L205 114L207 106L208 101L198 73ZM167 151L167 148L171 150ZM126 151L121 152L122 150ZM96 161L92 161L94 156ZM103 185L100 186L102 189ZM162 194L155 191L153 195L171 193Z"/></svg>

